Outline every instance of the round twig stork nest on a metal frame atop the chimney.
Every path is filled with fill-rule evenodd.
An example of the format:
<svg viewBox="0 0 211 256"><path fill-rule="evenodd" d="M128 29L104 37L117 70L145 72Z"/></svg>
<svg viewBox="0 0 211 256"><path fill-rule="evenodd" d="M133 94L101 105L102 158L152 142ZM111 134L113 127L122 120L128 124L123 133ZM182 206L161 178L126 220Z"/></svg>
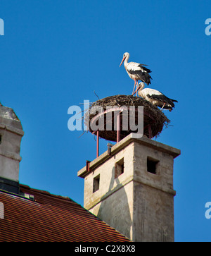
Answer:
<svg viewBox="0 0 211 256"><path fill-rule="evenodd" d="M158 109L157 106L151 104L151 102L146 101L146 99L142 99L140 97L134 97L132 95L115 95L106 97L103 99L99 99L98 101L92 103L89 106L89 110L84 116L84 122L89 127L89 131L94 133L95 130L91 130L91 123L93 122L93 118L97 117L99 113L101 113L100 118L103 118L104 126L103 130L99 130L99 137L109 140L109 141L117 141L117 129L114 127L114 114L112 115L111 123L112 130L106 130L106 112L98 112L91 114L91 108L94 106L100 106L103 111L106 111L108 107L122 107L126 106L129 110L129 106L135 106L135 109L138 109L138 106L143 106L143 135L146 135L148 138L158 137L158 135L162 132L164 126L168 126L170 120L165 116L165 114ZM130 111L128 111L128 115L132 115ZM138 111L135 111L135 122L138 123ZM129 116L128 116L129 121ZM96 121L96 125L98 121ZM129 127L129 125L128 125ZM137 133L137 130L124 130L122 129L122 113L120 113L120 140L129 135L130 133Z"/></svg>

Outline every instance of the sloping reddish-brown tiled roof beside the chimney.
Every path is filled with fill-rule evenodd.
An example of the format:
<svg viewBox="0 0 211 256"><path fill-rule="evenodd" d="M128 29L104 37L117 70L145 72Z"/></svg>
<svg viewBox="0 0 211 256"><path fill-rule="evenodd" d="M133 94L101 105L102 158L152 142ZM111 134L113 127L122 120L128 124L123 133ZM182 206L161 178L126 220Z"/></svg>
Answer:
<svg viewBox="0 0 211 256"><path fill-rule="evenodd" d="M0 190L4 219L0 241L128 242L94 214L68 197L20 185L34 200Z"/></svg>

